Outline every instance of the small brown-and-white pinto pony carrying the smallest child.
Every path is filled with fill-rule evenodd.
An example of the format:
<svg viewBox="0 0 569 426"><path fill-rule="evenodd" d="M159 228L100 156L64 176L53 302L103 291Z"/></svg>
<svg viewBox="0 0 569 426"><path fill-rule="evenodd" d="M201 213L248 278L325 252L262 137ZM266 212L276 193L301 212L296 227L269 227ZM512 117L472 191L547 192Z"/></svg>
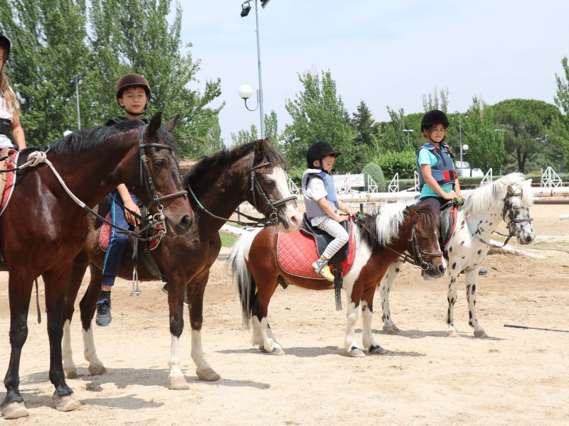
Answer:
<svg viewBox="0 0 569 426"><path fill-rule="evenodd" d="M363 346L370 354L385 354L371 332L373 294L383 274L403 253L413 253L423 273L430 277L442 276L446 263L438 242L439 226L432 209L426 204L384 204L377 215L364 215L353 226L356 254L353 266L344 276L349 305L346 312L348 327L344 344L351 356L364 356L354 337L361 302L363 317ZM278 233L263 229L257 234L243 236L230 256L233 279L238 286L243 322L253 325L252 344L261 351L284 354L282 346L272 334L267 321L270 299L280 281L299 285L309 290L330 290L334 285L313 278L303 278L284 271L277 259ZM428 260L425 261L425 259ZM312 261L309 261L312 262Z"/></svg>

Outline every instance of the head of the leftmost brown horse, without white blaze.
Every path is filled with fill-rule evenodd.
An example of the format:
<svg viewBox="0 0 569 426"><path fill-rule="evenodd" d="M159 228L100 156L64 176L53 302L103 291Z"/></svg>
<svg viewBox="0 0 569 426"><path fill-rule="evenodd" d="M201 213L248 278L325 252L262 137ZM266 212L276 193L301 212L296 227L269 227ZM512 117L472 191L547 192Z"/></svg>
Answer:
<svg viewBox="0 0 569 426"><path fill-rule="evenodd" d="M193 211L181 182L178 144L171 134L178 116L164 126L161 119L162 113L157 112L146 128L138 130L141 175L135 192L156 219L165 220L174 234L183 235L190 230Z"/></svg>

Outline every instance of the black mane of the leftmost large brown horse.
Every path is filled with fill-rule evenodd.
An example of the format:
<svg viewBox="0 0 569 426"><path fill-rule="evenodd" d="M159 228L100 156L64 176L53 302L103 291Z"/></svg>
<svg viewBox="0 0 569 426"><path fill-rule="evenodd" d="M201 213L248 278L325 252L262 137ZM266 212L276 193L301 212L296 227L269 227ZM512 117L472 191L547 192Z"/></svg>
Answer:
<svg viewBox="0 0 569 426"><path fill-rule="evenodd" d="M129 120L115 126L97 126L87 130L76 130L70 135L63 136L63 138L51 143L49 146L50 151L56 154L68 154L97 148L107 141L107 139L128 133L132 129L137 129L139 126L140 122L138 120ZM171 148L174 158L179 158L180 148L178 143L176 143L176 139L169 131L164 129L163 126L160 126L156 132L156 136L161 143L165 143ZM37 150L37 148L33 149L34 151Z"/></svg>

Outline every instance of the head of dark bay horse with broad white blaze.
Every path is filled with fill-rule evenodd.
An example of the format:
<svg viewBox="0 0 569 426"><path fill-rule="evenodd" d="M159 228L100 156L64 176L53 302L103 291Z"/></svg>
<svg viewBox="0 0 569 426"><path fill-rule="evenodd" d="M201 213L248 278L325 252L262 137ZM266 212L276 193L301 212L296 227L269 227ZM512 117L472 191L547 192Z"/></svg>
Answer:
<svg viewBox="0 0 569 426"><path fill-rule="evenodd" d="M250 162L250 192L248 202L279 223L285 232L299 229L302 215L297 209L297 197L289 191L287 162L272 148L269 138L255 141Z"/></svg>

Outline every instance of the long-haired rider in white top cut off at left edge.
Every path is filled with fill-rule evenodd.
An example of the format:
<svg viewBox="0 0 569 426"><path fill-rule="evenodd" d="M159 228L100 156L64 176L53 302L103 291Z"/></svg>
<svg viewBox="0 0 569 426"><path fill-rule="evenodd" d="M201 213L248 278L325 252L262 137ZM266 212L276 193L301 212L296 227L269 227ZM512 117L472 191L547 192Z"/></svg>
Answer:
<svg viewBox="0 0 569 426"><path fill-rule="evenodd" d="M0 33L0 158L13 148L10 133L18 149L26 148L26 137L20 124L20 106L14 90L10 87L8 76L4 73L4 63L10 55L10 40Z"/></svg>

